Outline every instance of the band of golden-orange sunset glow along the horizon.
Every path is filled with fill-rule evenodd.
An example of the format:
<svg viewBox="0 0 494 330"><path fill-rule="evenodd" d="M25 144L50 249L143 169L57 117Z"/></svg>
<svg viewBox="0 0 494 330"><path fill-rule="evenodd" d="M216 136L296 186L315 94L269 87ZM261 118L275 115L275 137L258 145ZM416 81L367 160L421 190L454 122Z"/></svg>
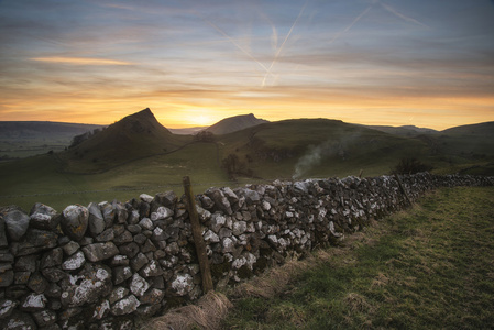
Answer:
<svg viewBox="0 0 494 330"><path fill-rule="evenodd" d="M353 99L349 101L349 99ZM254 113L268 121L297 118L329 118L348 123L381 125L417 125L436 130L451 127L494 121L491 105L493 98L416 98L380 96L337 96L331 100L321 98L320 94L305 94L305 97L262 99L221 99L216 107L213 100L190 102L163 98L100 99L50 98L45 102L19 100L4 103L0 120L17 120L14 116L22 112L28 120L61 121L94 124L111 124L123 117L150 108L156 119L166 128L190 128L211 125L216 122L240 114ZM406 105L406 106L404 106ZM471 113L464 111L472 109ZM13 113L9 118L9 113Z"/></svg>

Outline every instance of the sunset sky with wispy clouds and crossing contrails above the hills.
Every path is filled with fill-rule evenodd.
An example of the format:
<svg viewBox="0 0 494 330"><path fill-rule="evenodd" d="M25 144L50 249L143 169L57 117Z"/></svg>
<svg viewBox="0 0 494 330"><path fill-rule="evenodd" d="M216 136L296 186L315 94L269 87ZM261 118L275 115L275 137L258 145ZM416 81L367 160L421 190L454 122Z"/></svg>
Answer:
<svg viewBox="0 0 494 330"><path fill-rule="evenodd" d="M0 0L0 121L494 121L490 0Z"/></svg>

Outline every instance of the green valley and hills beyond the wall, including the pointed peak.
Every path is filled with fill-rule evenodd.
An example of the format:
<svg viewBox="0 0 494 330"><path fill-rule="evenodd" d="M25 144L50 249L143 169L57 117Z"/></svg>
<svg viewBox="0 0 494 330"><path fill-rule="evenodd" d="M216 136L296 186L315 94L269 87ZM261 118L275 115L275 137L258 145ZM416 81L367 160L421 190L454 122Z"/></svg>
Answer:
<svg viewBox="0 0 494 330"><path fill-rule="evenodd" d="M67 150L0 163L0 205L29 210L41 201L62 210L141 193L182 194L185 175L196 194L276 178L345 177L361 170L377 176L389 174L403 158L416 158L437 174L494 175L492 132L491 122L408 136L338 120L297 119L240 125L227 134L179 135L144 109Z"/></svg>

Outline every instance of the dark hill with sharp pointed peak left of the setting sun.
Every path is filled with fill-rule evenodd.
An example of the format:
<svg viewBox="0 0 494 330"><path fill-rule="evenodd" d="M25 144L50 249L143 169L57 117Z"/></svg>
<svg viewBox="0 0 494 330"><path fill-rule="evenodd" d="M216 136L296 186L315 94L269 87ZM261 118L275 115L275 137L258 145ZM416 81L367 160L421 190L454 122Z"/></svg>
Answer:
<svg viewBox="0 0 494 330"><path fill-rule="evenodd" d="M99 172L172 152L189 141L189 136L171 133L157 122L150 109L144 109L61 153L59 158L65 163L65 170Z"/></svg>

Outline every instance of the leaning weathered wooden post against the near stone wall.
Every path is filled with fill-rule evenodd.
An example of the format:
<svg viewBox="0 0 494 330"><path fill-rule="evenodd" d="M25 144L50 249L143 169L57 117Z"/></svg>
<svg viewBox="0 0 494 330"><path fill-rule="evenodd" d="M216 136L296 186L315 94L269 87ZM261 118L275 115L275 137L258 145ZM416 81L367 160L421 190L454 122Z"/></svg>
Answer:
<svg viewBox="0 0 494 330"><path fill-rule="evenodd" d="M197 215L196 200L194 199L190 178L184 176L184 191L187 197L187 211L193 227L193 238L196 245L197 258L199 260L200 276L202 278L202 290L205 294L212 290L211 270L209 268L208 255L206 254L206 244L202 239L202 230L200 229L199 216Z"/></svg>

